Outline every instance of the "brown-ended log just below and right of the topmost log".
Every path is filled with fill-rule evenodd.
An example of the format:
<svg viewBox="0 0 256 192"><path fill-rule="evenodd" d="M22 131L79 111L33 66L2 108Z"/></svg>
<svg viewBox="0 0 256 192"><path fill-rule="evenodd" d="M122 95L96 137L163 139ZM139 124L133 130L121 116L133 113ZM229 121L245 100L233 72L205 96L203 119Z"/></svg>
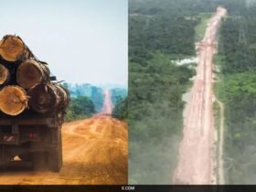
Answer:
<svg viewBox="0 0 256 192"><path fill-rule="evenodd" d="M16 71L16 81L24 89L30 89L38 83L50 80L49 69L45 64L33 59L21 63Z"/></svg>

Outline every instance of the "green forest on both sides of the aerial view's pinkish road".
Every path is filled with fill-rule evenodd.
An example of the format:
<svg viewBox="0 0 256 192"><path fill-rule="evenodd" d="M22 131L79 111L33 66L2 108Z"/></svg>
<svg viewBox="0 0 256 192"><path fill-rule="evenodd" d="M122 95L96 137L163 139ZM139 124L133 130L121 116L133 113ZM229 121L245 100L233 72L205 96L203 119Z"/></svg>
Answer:
<svg viewBox="0 0 256 192"><path fill-rule="evenodd" d="M195 55L202 16L218 5L229 12L216 57L216 95L225 106L226 181L255 183L255 1L129 0L130 183L171 182L182 130L181 96L194 71L170 60Z"/></svg>

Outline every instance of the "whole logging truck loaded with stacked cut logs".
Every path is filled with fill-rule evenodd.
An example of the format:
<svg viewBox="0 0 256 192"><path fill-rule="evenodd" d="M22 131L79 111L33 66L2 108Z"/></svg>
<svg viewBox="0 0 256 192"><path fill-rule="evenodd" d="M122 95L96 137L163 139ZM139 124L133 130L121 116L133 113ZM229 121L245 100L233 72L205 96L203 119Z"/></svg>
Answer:
<svg viewBox="0 0 256 192"><path fill-rule="evenodd" d="M0 166L62 166L61 125L69 91L20 37L0 41Z"/></svg>

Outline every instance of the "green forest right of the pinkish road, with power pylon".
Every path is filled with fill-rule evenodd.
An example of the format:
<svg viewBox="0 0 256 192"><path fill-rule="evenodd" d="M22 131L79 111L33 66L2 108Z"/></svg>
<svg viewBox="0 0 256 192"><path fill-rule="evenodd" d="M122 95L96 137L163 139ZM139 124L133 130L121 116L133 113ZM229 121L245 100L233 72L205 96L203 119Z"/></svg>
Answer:
<svg viewBox="0 0 256 192"><path fill-rule="evenodd" d="M256 5L250 2L229 11L216 59L217 95L225 104L227 184L255 184L256 178Z"/></svg>

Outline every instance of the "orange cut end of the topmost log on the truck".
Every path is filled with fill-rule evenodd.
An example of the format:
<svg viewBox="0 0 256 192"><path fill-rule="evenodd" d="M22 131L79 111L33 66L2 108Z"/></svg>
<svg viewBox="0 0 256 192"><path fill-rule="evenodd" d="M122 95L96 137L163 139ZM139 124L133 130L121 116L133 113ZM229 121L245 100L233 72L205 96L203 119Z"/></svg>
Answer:
<svg viewBox="0 0 256 192"><path fill-rule="evenodd" d="M0 55L7 61L19 59L26 47L23 41L16 36L5 36L0 42Z"/></svg>

